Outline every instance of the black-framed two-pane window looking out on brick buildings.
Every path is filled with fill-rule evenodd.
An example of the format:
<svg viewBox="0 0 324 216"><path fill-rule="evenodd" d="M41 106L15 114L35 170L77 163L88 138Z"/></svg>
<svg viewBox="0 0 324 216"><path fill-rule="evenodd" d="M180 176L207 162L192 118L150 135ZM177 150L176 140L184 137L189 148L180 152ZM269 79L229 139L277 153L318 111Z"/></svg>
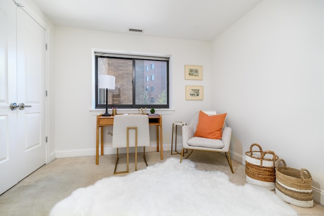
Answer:
<svg viewBox="0 0 324 216"><path fill-rule="evenodd" d="M98 88L99 75L115 76L115 89L108 90L109 107L169 108L169 58L95 53L95 64L97 109L106 104L105 89Z"/></svg>

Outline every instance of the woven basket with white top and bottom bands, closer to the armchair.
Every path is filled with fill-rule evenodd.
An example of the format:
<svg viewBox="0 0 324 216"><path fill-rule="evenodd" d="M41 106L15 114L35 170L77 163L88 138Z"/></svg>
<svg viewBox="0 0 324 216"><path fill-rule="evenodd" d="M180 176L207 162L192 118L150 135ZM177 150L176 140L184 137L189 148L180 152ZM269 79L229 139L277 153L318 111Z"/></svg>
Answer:
<svg viewBox="0 0 324 216"><path fill-rule="evenodd" d="M252 151L254 146L259 147L259 151ZM253 143L250 151L246 152L245 171L247 182L261 186L268 190L275 189L275 165L278 156L272 151L262 151L259 144Z"/></svg>

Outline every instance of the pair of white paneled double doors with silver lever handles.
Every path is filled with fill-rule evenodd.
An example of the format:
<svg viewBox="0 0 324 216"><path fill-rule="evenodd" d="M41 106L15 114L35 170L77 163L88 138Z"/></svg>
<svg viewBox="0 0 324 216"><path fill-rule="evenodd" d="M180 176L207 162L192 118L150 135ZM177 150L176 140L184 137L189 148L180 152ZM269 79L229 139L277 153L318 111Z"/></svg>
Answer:
<svg viewBox="0 0 324 216"><path fill-rule="evenodd" d="M2 2L0 194L46 163L46 32L13 1ZM20 105L16 110L9 107L13 102Z"/></svg>

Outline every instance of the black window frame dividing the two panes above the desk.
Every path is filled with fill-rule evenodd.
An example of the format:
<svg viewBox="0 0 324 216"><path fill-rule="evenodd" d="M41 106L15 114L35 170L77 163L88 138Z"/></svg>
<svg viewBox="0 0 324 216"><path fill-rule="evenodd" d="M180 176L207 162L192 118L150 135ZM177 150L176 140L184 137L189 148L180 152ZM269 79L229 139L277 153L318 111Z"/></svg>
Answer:
<svg viewBox="0 0 324 216"><path fill-rule="evenodd" d="M94 53L95 57L95 109L104 109L106 104L98 104L98 58L118 58L118 59L131 59L133 60L133 104L108 104L111 106L118 106L118 109L139 109L141 107L149 107L150 109L170 109L170 90L169 90L169 57L154 57L154 56L136 56L136 55L120 55L120 54L109 54L109 53ZM167 104L135 104L135 61L136 60L153 60L153 61L165 61L166 66L166 91L167 91ZM149 65L150 66L150 65ZM149 67L150 69L150 67ZM145 65L146 70L146 65ZM148 78L150 79L150 77ZM134 82L135 80L135 82ZM146 81L146 78L145 78ZM150 89L149 89L150 90ZM108 90L109 91L109 90ZM145 89L144 89L145 91Z"/></svg>

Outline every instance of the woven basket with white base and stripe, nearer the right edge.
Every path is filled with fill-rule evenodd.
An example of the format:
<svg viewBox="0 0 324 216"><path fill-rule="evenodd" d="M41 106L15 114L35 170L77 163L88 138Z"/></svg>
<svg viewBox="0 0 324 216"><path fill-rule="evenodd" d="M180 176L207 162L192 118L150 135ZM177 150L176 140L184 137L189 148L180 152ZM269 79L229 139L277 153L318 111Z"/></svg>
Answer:
<svg viewBox="0 0 324 216"><path fill-rule="evenodd" d="M284 166L275 168L276 194L288 203L300 207L313 207L312 176L307 169L295 169Z"/></svg>

